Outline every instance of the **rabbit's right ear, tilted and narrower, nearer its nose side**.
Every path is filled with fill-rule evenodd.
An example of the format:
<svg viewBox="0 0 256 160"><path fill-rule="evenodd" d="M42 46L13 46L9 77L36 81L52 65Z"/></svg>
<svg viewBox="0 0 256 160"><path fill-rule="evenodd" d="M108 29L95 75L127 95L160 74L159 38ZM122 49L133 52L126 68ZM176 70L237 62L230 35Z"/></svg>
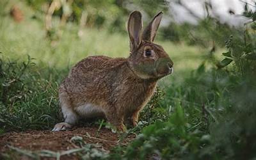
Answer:
<svg viewBox="0 0 256 160"><path fill-rule="evenodd" d="M153 42L156 36L157 29L162 19L163 12L157 13L157 15L152 19L152 21L148 24L147 28L144 29L142 39Z"/></svg>

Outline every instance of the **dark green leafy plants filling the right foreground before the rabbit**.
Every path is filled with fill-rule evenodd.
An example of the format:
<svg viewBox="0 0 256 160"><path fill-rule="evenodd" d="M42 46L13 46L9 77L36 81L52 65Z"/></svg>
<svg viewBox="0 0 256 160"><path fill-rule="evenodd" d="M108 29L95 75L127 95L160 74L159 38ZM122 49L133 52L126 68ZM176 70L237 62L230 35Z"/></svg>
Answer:
<svg viewBox="0 0 256 160"><path fill-rule="evenodd" d="M252 13L252 12L250 12ZM253 16L252 17L252 22ZM253 27L253 26L252 26ZM145 127L128 147L111 156L138 159L255 159L255 35L230 36L225 59L205 62L182 86L169 88L175 111L166 122ZM242 38L241 38L242 37ZM211 63L212 57L209 57ZM229 65L229 68L223 68ZM170 91L171 90L171 91ZM179 103L177 103L179 101ZM163 105L164 105L163 103ZM110 156L110 157L111 157Z"/></svg>

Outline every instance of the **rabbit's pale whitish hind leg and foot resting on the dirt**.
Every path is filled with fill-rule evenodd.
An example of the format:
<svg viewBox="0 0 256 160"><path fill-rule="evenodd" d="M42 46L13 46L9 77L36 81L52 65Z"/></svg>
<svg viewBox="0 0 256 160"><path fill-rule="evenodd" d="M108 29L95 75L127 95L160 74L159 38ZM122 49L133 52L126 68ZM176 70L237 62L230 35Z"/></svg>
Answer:
<svg viewBox="0 0 256 160"><path fill-rule="evenodd" d="M52 131L64 131L70 129L74 124L76 124L77 120L79 120L79 116L75 113L72 106L70 106L70 102L67 97L60 95L60 106L65 122L56 124Z"/></svg>

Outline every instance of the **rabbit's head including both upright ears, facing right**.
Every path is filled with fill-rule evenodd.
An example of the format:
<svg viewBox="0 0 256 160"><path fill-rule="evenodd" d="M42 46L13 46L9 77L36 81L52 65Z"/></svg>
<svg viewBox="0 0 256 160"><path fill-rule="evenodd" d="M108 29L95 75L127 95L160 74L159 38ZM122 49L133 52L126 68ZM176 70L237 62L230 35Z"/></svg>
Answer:
<svg viewBox="0 0 256 160"><path fill-rule="evenodd" d="M173 61L168 54L161 45L153 43L162 15L163 12L159 12L143 32L140 12L132 12L128 20L129 66L142 79L159 79L173 71Z"/></svg>

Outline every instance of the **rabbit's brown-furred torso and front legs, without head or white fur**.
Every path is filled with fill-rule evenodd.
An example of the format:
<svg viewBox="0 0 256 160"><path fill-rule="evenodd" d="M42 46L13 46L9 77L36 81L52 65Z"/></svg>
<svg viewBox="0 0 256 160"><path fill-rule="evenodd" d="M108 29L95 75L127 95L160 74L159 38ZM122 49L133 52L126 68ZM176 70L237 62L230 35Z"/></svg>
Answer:
<svg viewBox="0 0 256 160"><path fill-rule="evenodd" d="M147 103L155 87L156 81L136 76L125 58L92 56L72 68L60 92L67 92L72 108L90 102L106 111L109 122L122 125L124 117L130 118Z"/></svg>

